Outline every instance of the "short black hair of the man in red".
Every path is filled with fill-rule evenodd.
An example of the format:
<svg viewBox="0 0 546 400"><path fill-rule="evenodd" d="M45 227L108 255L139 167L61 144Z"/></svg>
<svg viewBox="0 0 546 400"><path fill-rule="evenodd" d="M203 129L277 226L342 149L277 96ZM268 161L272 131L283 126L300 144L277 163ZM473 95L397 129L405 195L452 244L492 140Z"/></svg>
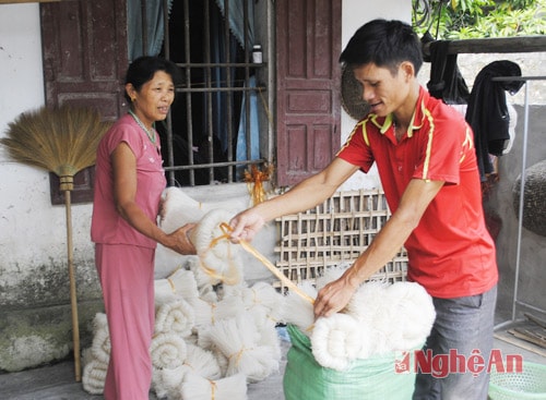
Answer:
<svg viewBox="0 0 546 400"><path fill-rule="evenodd" d="M395 73L400 63L410 61L415 74L423 65L420 40L412 26L402 21L373 20L355 32L340 56L351 65L373 63Z"/></svg>

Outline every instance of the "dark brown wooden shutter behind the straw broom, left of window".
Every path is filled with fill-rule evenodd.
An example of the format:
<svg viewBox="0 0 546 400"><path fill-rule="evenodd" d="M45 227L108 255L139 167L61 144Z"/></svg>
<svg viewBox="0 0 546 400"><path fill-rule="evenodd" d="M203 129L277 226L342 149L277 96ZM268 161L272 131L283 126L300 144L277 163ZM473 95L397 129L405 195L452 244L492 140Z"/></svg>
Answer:
<svg viewBox="0 0 546 400"><path fill-rule="evenodd" d="M95 107L105 120L124 112L128 65L126 0L76 0L40 4L47 106ZM63 203L50 175L51 202ZM72 201L92 201L93 168L74 177Z"/></svg>

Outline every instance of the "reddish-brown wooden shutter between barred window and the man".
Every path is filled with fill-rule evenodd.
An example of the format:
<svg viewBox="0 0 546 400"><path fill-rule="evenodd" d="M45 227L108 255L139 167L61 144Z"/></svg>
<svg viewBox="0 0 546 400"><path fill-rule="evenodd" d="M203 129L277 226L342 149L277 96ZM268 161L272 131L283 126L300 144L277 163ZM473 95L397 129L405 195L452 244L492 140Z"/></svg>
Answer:
<svg viewBox="0 0 546 400"><path fill-rule="evenodd" d="M277 0L277 184L320 171L340 135L340 0Z"/></svg>

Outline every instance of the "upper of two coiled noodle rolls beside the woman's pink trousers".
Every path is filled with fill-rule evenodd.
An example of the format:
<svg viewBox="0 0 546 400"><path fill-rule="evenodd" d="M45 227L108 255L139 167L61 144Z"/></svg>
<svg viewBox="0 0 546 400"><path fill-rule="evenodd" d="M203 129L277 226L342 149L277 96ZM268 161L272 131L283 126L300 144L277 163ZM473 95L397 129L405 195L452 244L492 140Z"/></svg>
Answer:
<svg viewBox="0 0 546 400"><path fill-rule="evenodd" d="M191 335L194 324L195 312L182 299L161 305L155 314L156 332L174 332L185 338Z"/></svg>

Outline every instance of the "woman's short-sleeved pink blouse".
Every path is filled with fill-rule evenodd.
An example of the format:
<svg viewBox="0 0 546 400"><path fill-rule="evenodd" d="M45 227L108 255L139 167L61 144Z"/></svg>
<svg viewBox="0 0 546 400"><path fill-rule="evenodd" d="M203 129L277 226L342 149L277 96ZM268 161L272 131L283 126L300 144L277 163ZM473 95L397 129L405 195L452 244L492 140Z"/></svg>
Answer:
<svg viewBox="0 0 546 400"><path fill-rule="evenodd" d="M127 143L136 157L134 201L152 221L157 219L161 195L167 183L161 149L152 144L133 118L126 114L110 128L98 145L91 239L95 243L155 249L157 243L154 240L132 228L116 210L110 156L121 142Z"/></svg>

